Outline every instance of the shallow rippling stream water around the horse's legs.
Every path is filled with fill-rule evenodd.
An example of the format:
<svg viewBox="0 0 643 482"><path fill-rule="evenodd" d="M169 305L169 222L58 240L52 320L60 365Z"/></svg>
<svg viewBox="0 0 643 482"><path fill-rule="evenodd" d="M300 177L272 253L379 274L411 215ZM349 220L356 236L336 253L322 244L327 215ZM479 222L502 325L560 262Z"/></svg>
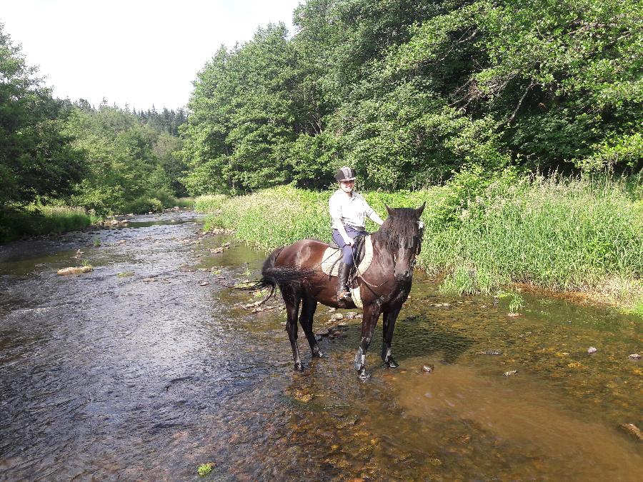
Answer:
<svg viewBox="0 0 643 482"><path fill-rule="evenodd" d="M192 216L0 248L1 479L196 479L207 462L211 480L643 475L641 443L619 429L643 426L636 318L536 296L508 318L418 273L395 331L401 368L380 363L377 331L359 382L353 320L321 342L325 359L300 336L308 370L295 373L281 305L252 314L227 287L264 253L197 237ZM78 248L94 271L56 276Z"/></svg>

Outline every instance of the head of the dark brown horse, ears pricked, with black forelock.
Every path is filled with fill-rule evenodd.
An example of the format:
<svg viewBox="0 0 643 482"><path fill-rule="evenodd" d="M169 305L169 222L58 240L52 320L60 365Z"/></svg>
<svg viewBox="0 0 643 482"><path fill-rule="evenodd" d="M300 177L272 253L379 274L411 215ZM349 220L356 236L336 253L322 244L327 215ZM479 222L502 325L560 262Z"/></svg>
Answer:
<svg viewBox="0 0 643 482"><path fill-rule="evenodd" d="M417 209L389 208L389 217L382 225L384 247L393 252L393 273L399 281L409 281L413 276L415 259L420 253L424 225L420 221L427 203Z"/></svg>

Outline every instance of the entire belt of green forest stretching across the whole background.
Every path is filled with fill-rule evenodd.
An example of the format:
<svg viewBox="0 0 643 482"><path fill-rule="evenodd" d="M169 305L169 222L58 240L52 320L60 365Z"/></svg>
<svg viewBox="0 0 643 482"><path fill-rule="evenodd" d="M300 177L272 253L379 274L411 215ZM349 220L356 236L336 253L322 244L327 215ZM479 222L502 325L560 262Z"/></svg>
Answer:
<svg viewBox="0 0 643 482"><path fill-rule="evenodd" d="M471 166L637 173L640 1L307 0L213 52L187 110L54 99L0 24L0 209L145 211L175 196L369 189Z"/></svg>

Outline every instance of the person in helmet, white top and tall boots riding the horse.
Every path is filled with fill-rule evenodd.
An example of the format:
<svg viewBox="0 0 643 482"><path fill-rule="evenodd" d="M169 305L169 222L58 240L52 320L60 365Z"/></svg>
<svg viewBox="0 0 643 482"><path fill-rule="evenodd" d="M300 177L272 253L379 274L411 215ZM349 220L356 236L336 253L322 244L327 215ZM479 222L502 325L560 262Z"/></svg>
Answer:
<svg viewBox="0 0 643 482"><path fill-rule="evenodd" d="M328 201L328 207L333 222L333 241L342 248L342 261L339 261L339 283L337 284L337 298L350 299L347 283L349 273L353 266L354 239L359 235L368 233L364 227L364 217L372 219L382 226L382 218L372 209L367 201L355 191L355 170L350 167L337 169L335 179L339 182L339 189L334 192Z"/></svg>

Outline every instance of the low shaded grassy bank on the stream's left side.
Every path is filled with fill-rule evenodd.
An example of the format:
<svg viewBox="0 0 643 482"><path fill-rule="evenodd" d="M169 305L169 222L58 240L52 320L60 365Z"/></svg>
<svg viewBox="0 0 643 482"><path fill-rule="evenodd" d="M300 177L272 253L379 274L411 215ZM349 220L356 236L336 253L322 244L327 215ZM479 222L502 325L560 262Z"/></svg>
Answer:
<svg viewBox="0 0 643 482"><path fill-rule="evenodd" d="M64 233L83 229L97 219L85 209L69 206L28 206L0 211L0 243L21 236Z"/></svg>

